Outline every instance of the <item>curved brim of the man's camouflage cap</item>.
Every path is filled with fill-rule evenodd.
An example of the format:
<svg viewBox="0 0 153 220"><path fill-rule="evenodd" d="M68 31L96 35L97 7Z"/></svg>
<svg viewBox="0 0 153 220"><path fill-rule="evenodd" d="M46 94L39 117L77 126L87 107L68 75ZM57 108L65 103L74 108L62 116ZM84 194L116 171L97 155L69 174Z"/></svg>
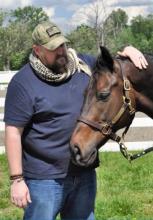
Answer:
<svg viewBox="0 0 153 220"><path fill-rule="evenodd" d="M64 36L58 36L55 39L52 39L50 42L47 44L43 44L45 48L48 50L55 50L58 48L61 44L67 43L69 40L65 38Z"/></svg>

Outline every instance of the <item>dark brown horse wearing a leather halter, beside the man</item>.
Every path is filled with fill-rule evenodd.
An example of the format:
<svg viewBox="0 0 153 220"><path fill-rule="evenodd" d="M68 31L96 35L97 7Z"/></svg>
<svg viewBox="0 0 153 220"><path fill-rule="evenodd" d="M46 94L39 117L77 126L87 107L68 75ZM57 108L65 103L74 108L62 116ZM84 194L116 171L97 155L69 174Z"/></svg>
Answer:
<svg viewBox="0 0 153 220"><path fill-rule="evenodd" d="M81 115L70 140L75 164L90 166L98 149L109 139L118 142L128 160L153 150L131 155L123 141L135 112L143 112L153 119L153 56L145 57L149 65L140 70L128 58L113 58L107 48L100 48ZM119 137L116 132L122 128L124 132Z"/></svg>

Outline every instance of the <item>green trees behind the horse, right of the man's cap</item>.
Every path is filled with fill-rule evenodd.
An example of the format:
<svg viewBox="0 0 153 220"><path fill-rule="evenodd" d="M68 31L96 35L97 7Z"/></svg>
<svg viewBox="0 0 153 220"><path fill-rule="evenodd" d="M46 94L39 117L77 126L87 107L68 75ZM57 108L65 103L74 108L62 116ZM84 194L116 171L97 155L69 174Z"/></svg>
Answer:
<svg viewBox="0 0 153 220"><path fill-rule="evenodd" d="M133 45L144 53L153 53L153 15L146 18L137 16L127 25L127 14L118 9L113 11L104 22L103 30L96 30L81 25L72 31L68 37L71 46L83 53L97 54L97 33L103 34L104 45L116 54L126 45ZM102 36L101 36L102 37Z"/></svg>

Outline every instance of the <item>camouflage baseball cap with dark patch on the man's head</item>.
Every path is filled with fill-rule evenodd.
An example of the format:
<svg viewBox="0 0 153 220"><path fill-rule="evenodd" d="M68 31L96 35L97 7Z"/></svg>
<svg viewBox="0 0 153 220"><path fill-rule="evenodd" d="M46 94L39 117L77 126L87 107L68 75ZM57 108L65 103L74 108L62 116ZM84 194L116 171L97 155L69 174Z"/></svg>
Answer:
<svg viewBox="0 0 153 220"><path fill-rule="evenodd" d="M35 27L32 40L34 44L42 45L49 50L55 50L61 44L68 42L58 26L49 21Z"/></svg>

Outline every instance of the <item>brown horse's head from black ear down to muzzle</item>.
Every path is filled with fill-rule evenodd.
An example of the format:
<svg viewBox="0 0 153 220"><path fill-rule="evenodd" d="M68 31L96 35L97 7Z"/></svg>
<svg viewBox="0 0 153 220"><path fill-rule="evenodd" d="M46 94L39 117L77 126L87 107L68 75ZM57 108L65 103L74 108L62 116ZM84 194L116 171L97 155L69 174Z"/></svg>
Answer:
<svg viewBox="0 0 153 220"><path fill-rule="evenodd" d="M119 63L113 60L106 48L101 47L81 117L71 137L72 159L78 165L92 164L97 150L112 138L110 135L127 125L126 111L125 117L120 118L119 115L124 96L121 75Z"/></svg>

